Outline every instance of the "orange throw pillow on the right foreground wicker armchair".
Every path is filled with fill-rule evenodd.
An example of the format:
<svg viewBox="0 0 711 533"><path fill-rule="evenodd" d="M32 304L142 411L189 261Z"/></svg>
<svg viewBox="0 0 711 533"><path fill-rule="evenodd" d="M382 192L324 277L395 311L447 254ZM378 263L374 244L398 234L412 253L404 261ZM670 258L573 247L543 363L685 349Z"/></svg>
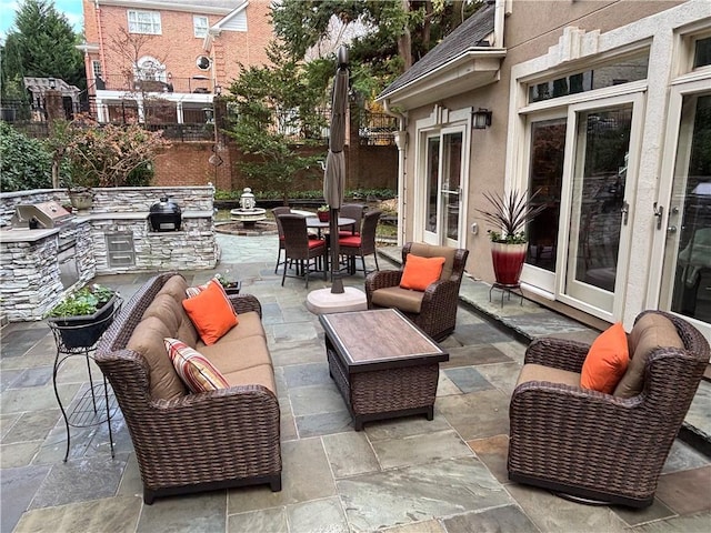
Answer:
<svg viewBox="0 0 711 533"><path fill-rule="evenodd" d="M627 334L618 322L592 343L582 363L580 386L612 394L630 363Z"/></svg>

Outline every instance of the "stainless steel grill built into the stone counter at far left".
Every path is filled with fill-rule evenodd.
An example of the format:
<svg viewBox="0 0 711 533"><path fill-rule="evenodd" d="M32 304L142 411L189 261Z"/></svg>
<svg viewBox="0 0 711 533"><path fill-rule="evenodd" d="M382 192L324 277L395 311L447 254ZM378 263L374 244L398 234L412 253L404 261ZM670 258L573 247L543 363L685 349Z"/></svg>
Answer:
<svg viewBox="0 0 711 533"><path fill-rule="evenodd" d="M57 202L18 204L10 223L13 228L42 230L59 228L57 235L57 262L64 289L79 280L77 264L77 228L74 215Z"/></svg>

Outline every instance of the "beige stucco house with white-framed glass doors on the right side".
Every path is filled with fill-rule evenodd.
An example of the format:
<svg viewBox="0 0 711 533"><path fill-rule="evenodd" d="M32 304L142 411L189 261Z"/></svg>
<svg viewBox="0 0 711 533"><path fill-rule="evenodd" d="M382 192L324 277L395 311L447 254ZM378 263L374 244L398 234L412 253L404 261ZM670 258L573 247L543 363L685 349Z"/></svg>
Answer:
<svg viewBox="0 0 711 533"><path fill-rule="evenodd" d="M711 339L711 2L489 1L378 100L400 118L400 241L468 248L493 281L482 193L540 190L527 296Z"/></svg>

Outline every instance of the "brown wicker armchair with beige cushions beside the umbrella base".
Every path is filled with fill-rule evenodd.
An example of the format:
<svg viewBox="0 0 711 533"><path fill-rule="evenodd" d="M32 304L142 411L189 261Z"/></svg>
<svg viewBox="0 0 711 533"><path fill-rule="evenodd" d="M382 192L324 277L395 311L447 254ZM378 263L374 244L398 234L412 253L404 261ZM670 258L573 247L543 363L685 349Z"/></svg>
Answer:
<svg viewBox="0 0 711 533"><path fill-rule="evenodd" d="M424 292L400 288L408 255L445 258L442 275ZM447 338L457 325L457 303L468 250L408 242L402 247L402 269L371 272L365 278L368 309L397 308L435 341Z"/></svg>

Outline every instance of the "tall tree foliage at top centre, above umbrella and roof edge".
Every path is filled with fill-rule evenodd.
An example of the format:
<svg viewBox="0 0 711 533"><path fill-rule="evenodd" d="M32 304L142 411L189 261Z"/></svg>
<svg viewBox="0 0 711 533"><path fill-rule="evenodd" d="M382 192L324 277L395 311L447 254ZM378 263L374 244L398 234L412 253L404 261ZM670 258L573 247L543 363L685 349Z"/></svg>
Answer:
<svg viewBox="0 0 711 533"><path fill-rule="evenodd" d="M354 29L353 87L373 97L483 4L480 0L283 0L272 9L277 34L303 59L338 41L334 27ZM333 24L337 20L340 24Z"/></svg>

